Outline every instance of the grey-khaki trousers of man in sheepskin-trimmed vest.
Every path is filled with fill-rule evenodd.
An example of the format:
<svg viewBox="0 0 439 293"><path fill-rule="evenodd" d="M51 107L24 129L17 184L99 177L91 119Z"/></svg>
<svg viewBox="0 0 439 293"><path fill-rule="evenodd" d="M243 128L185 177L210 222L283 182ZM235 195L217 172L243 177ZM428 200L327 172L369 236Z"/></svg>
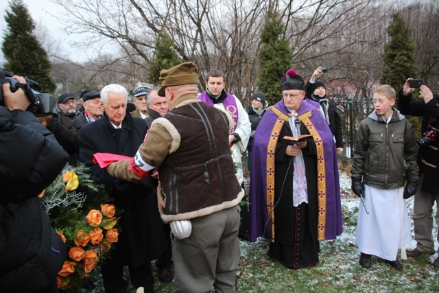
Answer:
<svg viewBox="0 0 439 293"><path fill-rule="evenodd" d="M174 288L178 293L235 292L239 206L191 220L192 233L172 243Z"/></svg>

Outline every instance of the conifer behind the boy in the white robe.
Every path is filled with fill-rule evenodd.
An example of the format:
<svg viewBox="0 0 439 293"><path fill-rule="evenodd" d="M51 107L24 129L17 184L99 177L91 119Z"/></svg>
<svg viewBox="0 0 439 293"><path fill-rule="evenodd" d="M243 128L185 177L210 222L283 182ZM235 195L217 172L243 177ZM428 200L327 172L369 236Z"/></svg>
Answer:
<svg viewBox="0 0 439 293"><path fill-rule="evenodd" d="M388 30L390 42L384 46L384 68L379 82L399 91L407 78L416 78L415 45L401 14L393 14Z"/></svg>

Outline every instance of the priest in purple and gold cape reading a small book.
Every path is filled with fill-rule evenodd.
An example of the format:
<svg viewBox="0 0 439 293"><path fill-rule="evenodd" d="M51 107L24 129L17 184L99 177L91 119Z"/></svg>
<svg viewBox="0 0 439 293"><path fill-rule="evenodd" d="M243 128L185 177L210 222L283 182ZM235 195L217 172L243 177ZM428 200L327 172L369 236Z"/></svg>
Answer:
<svg viewBox="0 0 439 293"><path fill-rule="evenodd" d="M269 239L268 257L289 268L315 265L319 241L342 233L335 143L304 86L294 69L282 78L283 99L254 134L250 172L250 241ZM301 134L312 137L287 139Z"/></svg>

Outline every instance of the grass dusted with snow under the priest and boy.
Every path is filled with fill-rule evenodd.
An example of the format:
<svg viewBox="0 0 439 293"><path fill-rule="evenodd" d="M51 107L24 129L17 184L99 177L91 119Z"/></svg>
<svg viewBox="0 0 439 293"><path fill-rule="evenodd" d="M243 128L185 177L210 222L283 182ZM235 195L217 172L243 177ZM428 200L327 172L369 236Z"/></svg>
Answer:
<svg viewBox="0 0 439 293"><path fill-rule="evenodd" d="M351 178L345 172L340 172L340 187L344 231L334 241L320 242L320 263L311 268L287 269L266 257L269 243L265 239L256 243L241 241L237 292L439 292L439 272L430 265L437 254L402 261L404 268L400 271L377 257L372 257L372 268L359 266L355 243L359 199L351 194ZM407 200L407 207L412 217L413 198ZM408 248L415 246L412 240ZM153 270L156 275L155 266ZM95 278L98 287L93 292L104 292L99 276ZM174 292L174 287L156 281L155 290Z"/></svg>

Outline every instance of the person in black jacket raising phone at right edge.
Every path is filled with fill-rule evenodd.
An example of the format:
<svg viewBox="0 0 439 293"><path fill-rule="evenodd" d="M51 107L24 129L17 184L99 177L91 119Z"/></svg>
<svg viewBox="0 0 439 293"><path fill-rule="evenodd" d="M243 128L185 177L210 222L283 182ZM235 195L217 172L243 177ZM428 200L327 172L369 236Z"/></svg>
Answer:
<svg viewBox="0 0 439 293"><path fill-rule="evenodd" d="M434 202L439 204L439 144L437 134L439 127L439 95L433 95L431 90L420 86L420 100L413 101L414 88L410 87L409 78L398 98L398 110L404 115L423 117L420 128L423 137L418 141L418 164L420 184L414 196L414 238L416 248L407 251L409 257L419 257L422 254L433 255L434 239L432 236L433 220L431 218ZM436 224L439 226L439 210L436 209ZM438 238L439 241L439 238ZM439 269L439 257L431 264Z"/></svg>

